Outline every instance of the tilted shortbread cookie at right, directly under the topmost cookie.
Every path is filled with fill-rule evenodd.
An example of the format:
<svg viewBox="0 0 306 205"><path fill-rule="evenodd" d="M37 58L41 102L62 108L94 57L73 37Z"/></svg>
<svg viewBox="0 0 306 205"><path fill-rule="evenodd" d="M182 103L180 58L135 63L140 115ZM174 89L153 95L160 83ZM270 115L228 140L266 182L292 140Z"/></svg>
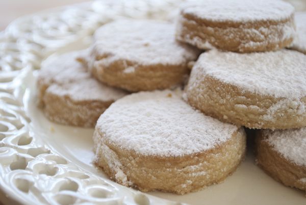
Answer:
<svg viewBox="0 0 306 205"><path fill-rule="evenodd" d="M202 54L186 89L189 103L249 128L306 126L306 55L294 50Z"/></svg>

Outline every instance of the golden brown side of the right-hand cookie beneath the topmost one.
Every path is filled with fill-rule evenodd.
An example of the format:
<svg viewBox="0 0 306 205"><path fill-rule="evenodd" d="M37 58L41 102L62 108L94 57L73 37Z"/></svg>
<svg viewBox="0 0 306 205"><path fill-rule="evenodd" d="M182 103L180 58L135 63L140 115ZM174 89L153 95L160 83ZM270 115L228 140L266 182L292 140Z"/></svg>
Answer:
<svg viewBox="0 0 306 205"><path fill-rule="evenodd" d="M209 75L197 75L195 78L192 80L195 83L187 86L188 102L206 115L254 129L306 126L306 115L300 108L306 106L306 97L290 101L243 91Z"/></svg>

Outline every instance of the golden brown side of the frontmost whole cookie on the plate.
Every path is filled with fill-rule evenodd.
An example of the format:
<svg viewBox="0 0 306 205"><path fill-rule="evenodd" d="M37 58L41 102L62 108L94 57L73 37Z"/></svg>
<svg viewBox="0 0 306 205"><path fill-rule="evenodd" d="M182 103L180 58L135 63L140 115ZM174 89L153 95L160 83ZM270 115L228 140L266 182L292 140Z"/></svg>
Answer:
<svg viewBox="0 0 306 205"><path fill-rule="evenodd" d="M94 134L95 164L119 184L141 191L185 194L222 182L245 157L244 130L220 146L184 157L141 156L122 150Z"/></svg>

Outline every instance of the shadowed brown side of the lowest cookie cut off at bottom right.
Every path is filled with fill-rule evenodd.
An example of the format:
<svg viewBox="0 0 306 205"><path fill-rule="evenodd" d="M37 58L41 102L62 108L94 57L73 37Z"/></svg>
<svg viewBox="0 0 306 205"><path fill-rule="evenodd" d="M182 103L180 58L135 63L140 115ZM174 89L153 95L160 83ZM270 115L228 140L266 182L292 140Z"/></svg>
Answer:
<svg viewBox="0 0 306 205"><path fill-rule="evenodd" d="M306 178L306 167L299 166L282 157L265 141L266 136L259 131L256 138L257 164L274 180L289 187L306 191L306 183L300 180Z"/></svg>

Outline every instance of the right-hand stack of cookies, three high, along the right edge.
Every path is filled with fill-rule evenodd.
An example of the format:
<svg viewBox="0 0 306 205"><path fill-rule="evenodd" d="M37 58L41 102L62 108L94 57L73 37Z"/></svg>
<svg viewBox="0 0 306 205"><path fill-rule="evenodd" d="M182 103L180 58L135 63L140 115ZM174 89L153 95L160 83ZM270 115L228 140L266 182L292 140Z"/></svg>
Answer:
<svg viewBox="0 0 306 205"><path fill-rule="evenodd" d="M223 122L270 129L258 131L258 165L306 190L306 56L284 49L294 35L294 8L266 0L188 4L177 30L177 40L211 49L192 69L190 105ZM302 50L302 41L293 48Z"/></svg>

